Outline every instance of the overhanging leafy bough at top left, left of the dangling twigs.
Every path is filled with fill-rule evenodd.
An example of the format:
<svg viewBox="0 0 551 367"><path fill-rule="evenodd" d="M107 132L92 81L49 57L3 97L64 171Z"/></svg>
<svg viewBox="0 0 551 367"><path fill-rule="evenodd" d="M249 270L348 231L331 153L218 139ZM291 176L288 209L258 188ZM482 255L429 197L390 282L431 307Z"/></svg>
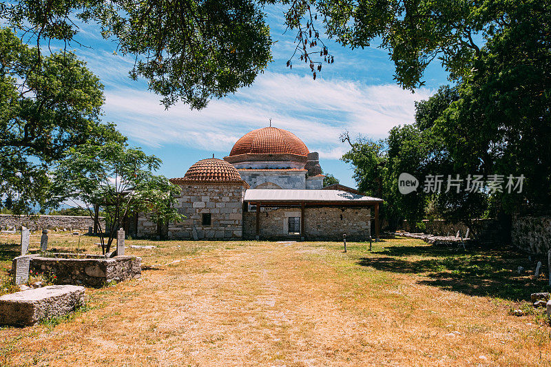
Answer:
<svg viewBox="0 0 551 367"><path fill-rule="evenodd" d="M134 58L130 76L145 78L167 106L205 107L251 85L271 60L269 28L251 0L14 0L0 11L37 45L77 42L75 18L98 23Z"/></svg>

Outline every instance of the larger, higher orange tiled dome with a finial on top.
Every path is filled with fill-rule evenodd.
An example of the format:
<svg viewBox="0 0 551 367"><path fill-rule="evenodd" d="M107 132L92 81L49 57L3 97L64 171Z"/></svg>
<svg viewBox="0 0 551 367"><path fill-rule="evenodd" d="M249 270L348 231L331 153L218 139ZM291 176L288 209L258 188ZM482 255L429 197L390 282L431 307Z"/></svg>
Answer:
<svg viewBox="0 0 551 367"><path fill-rule="evenodd" d="M295 154L306 157L309 150L295 134L277 127L263 127L237 140L229 156L240 154Z"/></svg>

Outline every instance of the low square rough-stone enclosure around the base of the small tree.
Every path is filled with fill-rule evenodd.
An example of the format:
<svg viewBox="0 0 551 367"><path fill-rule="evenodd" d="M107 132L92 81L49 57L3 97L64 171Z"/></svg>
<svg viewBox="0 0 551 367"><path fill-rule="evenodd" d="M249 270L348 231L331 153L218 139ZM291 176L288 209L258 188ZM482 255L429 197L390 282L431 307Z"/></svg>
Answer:
<svg viewBox="0 0 551 367"><path fill-rule="evenodd" d="M74 258L74 253L54 253L52 258L32 256L30 271L55 275L55 284L76 284L99 288L105 283L122 282L141 276L141 258L116 256L104 258L101 255L83 255ZM14 267L12 266L12 269Z"/></svg>

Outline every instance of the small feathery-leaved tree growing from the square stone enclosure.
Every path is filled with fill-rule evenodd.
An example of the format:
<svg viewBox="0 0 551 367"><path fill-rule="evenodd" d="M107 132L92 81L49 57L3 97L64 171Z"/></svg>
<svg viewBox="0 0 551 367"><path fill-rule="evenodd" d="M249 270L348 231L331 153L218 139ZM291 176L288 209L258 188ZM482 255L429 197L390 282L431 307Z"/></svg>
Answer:
<svg viewBox="0 0 551 367"><path fill-rule="evenodd" d="M158 222L182 218L174 207L180 192L164 176L154 174L160 160L125 143L84 144L68 149L52 171L50 204L73 202L99 227L103 253L110 251L116 231L134 213L146 212ZM105 213L101 227L94 208Z"/></svg>

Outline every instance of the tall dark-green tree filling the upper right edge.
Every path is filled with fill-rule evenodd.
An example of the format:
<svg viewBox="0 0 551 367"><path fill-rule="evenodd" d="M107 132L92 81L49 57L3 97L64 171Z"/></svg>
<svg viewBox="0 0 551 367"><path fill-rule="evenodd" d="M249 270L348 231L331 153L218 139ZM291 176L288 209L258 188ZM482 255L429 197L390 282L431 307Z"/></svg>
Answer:
<svg viewBox="0 0 551 367"><path fill-rule="evenodd" d="M495 193L508 212L551 205L550 14L550 1L510 6L435 122L457 168L526 177L521 193Z"/></svg>

